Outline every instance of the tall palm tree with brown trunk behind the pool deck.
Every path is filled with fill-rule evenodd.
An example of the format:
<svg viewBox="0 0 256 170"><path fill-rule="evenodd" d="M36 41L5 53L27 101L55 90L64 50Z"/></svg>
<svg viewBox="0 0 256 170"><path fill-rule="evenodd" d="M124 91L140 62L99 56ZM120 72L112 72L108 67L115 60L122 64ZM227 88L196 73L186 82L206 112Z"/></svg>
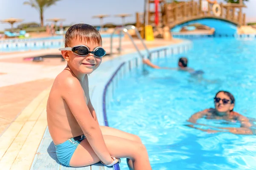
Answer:
<svg viewBox="0 0 256 170"><path fill-rule="evenodd" d="M24 5L30 5L33 8L36 8L40 13L41 26L44 26L44 10L45 8L55 5L59 0L29 0L24 2Z"/></svg>

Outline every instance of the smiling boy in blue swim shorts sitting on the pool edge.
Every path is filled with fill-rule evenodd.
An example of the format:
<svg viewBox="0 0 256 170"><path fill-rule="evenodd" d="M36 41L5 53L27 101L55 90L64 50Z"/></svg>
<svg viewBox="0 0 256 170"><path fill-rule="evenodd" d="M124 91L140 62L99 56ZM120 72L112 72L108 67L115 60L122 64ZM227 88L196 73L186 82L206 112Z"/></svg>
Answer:
<svg viewBox="0 0 256 170"><path fill-rule="evenodd" d="M61 164L82 167L99 161L107 166L128 158L130 170L151 170L138 136L99 126L90 102L88 77L106 54L99 32L90 25L71 26L61 54L66 68L56 77L47 102L49 132Z"/></svg>

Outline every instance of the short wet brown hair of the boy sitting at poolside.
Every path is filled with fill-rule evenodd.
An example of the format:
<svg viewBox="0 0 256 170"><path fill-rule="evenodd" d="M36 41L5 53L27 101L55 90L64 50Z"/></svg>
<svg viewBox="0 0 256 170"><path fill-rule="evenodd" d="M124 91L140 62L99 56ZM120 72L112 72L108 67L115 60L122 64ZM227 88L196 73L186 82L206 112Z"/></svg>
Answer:
<svg viewBox="0 0 256 170"><path fill-rule="evenodd" d="M88 43L102 45L102 37L99 31L89 24L75 24L68 28L65 35L65 47L69 47L71 40L79 38Z"/></svg>

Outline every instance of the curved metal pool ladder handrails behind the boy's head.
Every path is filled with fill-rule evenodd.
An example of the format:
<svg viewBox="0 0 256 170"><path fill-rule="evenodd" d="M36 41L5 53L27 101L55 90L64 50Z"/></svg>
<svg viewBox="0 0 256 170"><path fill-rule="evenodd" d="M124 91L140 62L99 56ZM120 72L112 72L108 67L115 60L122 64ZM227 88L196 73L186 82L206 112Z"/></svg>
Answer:
<svg viewBox="0 0 256 170"><path fill-rule="evenodd" d="M128 33L129 29L134 29L135 30L135 32L137 34L137 37L140 39L140 41L142 42L145 50L147 51L147 54L148 54L147 57L149 57L150 56L150 51L148 50L147 46L145 45L144 40L140 36L140 33L139 33L138 29L135 26L132 26L132 25L115 28L115 30L113 31L113 33L111 34L111 37L110 37L111 38L111 42L110 42L110 55L113 54L113 35L115 34L116 31L120 31L120 33L119 33L119 48L118 48L119 54L121 54L121 51L122 51L122 48L121 48L122 32L124 32L131 39L131 42L133 43L133 45L136 48L137 52L139 53L140 57L143 59L143 54L141 53L141 51L138 48L138 46L135 44L133 37L131 37L131 34Z"/></svg>

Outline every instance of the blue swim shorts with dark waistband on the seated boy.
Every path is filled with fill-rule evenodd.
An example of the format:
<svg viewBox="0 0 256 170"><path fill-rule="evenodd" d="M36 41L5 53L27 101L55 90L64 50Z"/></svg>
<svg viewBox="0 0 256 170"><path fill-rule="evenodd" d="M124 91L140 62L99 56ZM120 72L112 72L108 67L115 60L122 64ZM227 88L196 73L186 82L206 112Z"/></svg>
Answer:
<svg viewBox="0 0 256 170"><path fill-rule="evenodd" d="M78 145L85 139L84 135L76 136L62 144L55 145L56 155L61 164L70 167L70 160Z"/></svg>

